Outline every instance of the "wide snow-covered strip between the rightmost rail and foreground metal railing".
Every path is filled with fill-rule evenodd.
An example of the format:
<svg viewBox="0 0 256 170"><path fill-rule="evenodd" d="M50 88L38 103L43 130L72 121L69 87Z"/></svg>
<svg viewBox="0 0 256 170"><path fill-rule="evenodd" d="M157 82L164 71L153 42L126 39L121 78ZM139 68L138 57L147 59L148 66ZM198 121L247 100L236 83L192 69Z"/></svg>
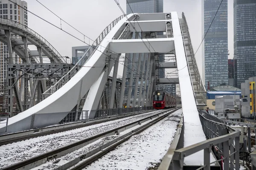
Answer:
<svg viewBox="0 0 256 170"><path fill-rule="evenodd" d="M182 110L132 136L86 170L145 170L163 159L175 136ZM84 169L84 170L85 170Z"/></svg>

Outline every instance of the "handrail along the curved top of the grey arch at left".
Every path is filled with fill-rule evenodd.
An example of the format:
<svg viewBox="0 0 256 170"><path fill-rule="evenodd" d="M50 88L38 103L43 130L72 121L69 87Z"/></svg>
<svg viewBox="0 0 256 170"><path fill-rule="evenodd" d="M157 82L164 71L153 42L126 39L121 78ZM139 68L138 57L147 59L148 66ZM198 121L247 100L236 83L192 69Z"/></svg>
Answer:
<svg viewBox="0 0 256 170"><path fill-rule="evenodd" d="M33 31L32 29L28 28L27 26L25 26L21 23L17 23L16 21L9 20L9 19L0 18L0 23L6 24L8 26L14 26L16 28L20 28L29 34L32 34L34 37L36 37L41 42L43 42L42 45L46 45L45 47L49 47L52 50L53 55L57 56L57 59L60 59L61 62L65 62L65 59L61 56L61 54L59 54L58 51L47 40L45 40L41 35L39 35L37 32Z"/></svg>

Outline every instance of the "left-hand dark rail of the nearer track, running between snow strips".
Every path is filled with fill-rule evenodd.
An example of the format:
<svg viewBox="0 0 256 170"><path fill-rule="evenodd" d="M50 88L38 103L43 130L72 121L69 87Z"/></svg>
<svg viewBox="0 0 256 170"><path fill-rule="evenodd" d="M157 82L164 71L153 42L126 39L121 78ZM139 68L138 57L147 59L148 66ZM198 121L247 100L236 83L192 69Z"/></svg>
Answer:
<svg viewBox="0 0 256 170"><path fill-rule="evenodd" d="M96 140L101 139L102 136L114 135L114 134L116 134L116 133L118 133L118 132L120 132L122 130L131 128L133 126L136 126L136 125L140 124L141 122L145 122L147 120L153 119L153 118L158 117L161 114L164 114L166 112L169 113L170 110L161 111L160 113L156 113L156 114L153 114L151 116L147 116L147 117L139 119L139 120L137 120L135 122L128 123L127 125L123 125L121 127L117 127L117 128L112 129L112 130L105 131L103 133L91 136L91 137L89 137L87 139L83 139L83 140L80 140L78 142L75 142L75 143L72 143L72 144L68 144L67 146L64 146L64 147L52 150L50 152L47 152L47 153L44 153L44 154L32 157L30 159L26 159L25 161L21 161L21 162L18 162L16 164L12 164L11 166L4 167L3 170L14 170L14 169L18 169L18 168L22 168L23 170L26 170L26 169L31 169L33 167L37 167L37 166L39 166L41 164L44 164L47 161L51 161L53 159L55 161L58 161L58 158L60 158L61 156L67 155L68 153L71 153L71 152L73 152L75 150L78 150L79 148L84 147L87 144L95 142ZM85 156L82 155L78 159L81 159L81 158L84 159L87 156L86 155ZM76 159L76 160L78 160L78 159ZM64 169L66 169L66 168L64 168Z"/></svg>

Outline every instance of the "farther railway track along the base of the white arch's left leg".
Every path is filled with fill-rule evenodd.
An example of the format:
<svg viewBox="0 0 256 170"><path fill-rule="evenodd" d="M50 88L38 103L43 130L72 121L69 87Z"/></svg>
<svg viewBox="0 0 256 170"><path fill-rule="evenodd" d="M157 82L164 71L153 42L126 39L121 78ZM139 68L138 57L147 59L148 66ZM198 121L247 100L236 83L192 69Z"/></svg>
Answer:
<svg viewBox="0 0 256 170"><path fill-rule="evenodd" d="M142 111L139 113L127 113L127 114L122 114L118 116L108 116L104 118L99 118L99 119L91 119L87 121L81 121L81 122L74 122L74 123L69 123L69 124L64 124L64 125L57 125L57 126L52 126L52 127L43 127L43 128L38 128L38 129L33 129L33 130L26 130L22 132L17 132L17 133L8 133L4 135L0 135L0 146L5 145L5 144L11 144L14 142L20 142L23 140L27 139L32 139L36 138L39 136L46 136L54 133L60 133L64 132L67 130L72 130L76 128L81 128L81 127L86 127L90 125L96 125L99 123L103 122L108 122L116 119L122 119L125 117L129 116L135 116L143 113L148 113L149 111Z"/></svg>

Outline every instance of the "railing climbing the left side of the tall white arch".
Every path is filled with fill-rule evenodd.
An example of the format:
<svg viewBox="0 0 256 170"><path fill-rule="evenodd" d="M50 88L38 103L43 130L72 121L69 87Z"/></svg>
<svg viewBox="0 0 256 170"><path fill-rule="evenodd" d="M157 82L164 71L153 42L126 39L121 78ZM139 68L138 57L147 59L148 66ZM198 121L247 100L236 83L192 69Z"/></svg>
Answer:
<svg viewBox="0 0 256 170"><path fill-rule="evenodd" d="M99 44L102 42L102 40L106 37L106 35L111 31L111 29L118 23L122 18L125 17L125 15L122 15L116 20L114 20L110 25L108 25L104 31L99 35L99 37L93 42L92 45L90 45L90 48L84 53L84 55L79 59L79 61L74 65L70 71L64 75L55 85L50 87L47 91L43 93L43 95L51 95L55 93L58 89L60 89L64 84L66 84L84 65L85 62L87 62L90 57L93 55L93 53L96 51L96 49L99 47Z"/></svg>

